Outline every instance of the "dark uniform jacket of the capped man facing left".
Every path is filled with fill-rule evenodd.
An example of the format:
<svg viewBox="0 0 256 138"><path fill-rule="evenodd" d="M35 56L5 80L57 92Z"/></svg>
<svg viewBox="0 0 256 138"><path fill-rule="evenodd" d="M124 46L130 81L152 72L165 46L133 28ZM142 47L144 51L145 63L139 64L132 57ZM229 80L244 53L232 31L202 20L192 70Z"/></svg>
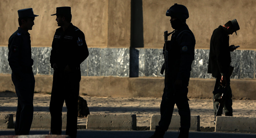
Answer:
<svg viewBox="0 0 256 138"><path fill-rule="evenodd" d="M89 51L86 45L84 33L72 23L68 28L57 28L52 42L50 64L56 63L58 70L63 71L69 65L73 70L88 57Z"/></svg>

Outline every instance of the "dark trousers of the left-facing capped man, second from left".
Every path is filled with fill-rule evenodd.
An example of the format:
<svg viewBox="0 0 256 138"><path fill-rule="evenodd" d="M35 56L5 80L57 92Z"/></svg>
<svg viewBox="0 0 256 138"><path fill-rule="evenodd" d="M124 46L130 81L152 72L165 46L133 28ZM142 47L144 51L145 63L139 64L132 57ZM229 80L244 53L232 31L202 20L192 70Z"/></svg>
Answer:
<svg viewBox="0 0 256 138"><path fill-rule="evenodd" d="M80 70L71 73L54 71L52 95L50 100L51 132L61 135L62 108L64 100L67 106L66 135L76 138Z"/></svg>

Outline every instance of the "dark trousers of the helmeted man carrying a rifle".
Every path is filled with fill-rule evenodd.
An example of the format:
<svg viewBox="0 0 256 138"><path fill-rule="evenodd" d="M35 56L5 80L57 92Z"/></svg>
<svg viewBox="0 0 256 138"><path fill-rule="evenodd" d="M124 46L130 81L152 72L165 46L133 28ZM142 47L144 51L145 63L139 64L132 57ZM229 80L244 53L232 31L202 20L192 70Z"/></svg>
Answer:
<svg viewBox="0 0 256 138"><path fill-rule="evenodd" d="M182 130L189 130L190 128L190 109L188 104L188 80L182 80L182 87L180 89L174 88L174 80L165 76L165 88L163 89L163 96L160 106L161 119L158 123L158 129L167 131L172 120L174 105L178 107L180 115L180 126Z"/></svg>

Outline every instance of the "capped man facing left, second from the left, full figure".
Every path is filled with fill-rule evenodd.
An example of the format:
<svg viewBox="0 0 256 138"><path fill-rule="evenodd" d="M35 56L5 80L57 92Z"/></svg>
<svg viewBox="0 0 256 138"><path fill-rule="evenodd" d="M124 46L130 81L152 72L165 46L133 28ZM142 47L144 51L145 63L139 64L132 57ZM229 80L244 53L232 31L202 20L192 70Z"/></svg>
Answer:
<svg viewBox="0 0 256 138"><path fill-rule="evenodd" d="M56 29L52 42L50 64L54 69L50 100L51 132L61 134L62 107L67 106L66 135L76 138L78 117L80 64L88 57L84 33L71 23L71 7L57 7ZM52 16L53 16L52 15Z"/></svg>

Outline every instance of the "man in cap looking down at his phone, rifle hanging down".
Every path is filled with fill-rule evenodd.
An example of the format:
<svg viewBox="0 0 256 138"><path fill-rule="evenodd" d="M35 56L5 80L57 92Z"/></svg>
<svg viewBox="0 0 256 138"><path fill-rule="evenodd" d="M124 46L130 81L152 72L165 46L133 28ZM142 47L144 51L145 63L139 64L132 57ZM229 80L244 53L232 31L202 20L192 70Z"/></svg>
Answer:
<svg viewBox="0 0 256 138"><path fill-rule="evenodd" d="M224 112L226 116L233 116L232 109L232 91L230 88L230 63L231 57L230 52L236 50L237 48L234 45L229 46L229 35L233 34L239 30L240 27L237 23L237 20L231 20L227 22L224 26L219 26L216 28L211 36L210 41L210 54L209 54L209 63L208 63L208 73L212 74L212 77L216 78L213 99L221 98L221 85L226 86L226 99L224 105ZM236 32L237 35L237 32ZM233 68L233 67L231 67ZM219 102L213 101L214 107L214 116L217 113ZM222 114L221 109L221 114ZM221 116L218 114L217 116Z"/></svg>

